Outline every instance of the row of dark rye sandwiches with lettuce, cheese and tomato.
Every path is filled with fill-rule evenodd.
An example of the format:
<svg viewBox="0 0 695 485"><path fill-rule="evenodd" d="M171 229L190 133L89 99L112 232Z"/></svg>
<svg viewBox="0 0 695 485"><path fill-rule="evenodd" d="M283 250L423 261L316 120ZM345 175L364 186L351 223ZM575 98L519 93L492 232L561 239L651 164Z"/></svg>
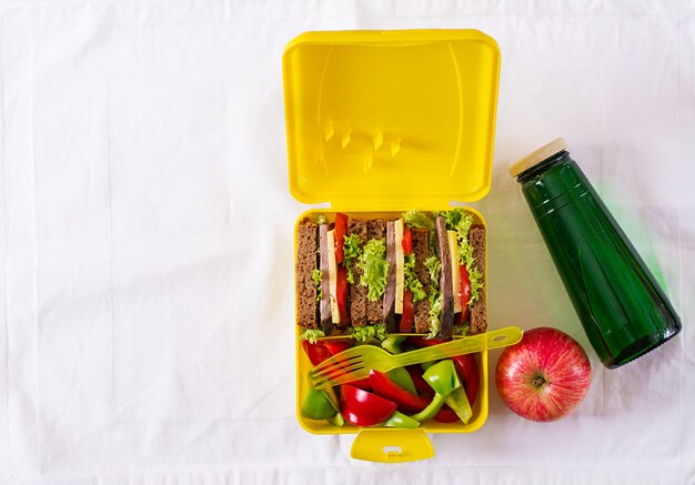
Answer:
<svg viewBox="0 0 695 485"><path fill-rule="evenodd" d="M487 329L485 228L464 209L296 226L296 323L303 337L387 333L449 339Z"/></svg>

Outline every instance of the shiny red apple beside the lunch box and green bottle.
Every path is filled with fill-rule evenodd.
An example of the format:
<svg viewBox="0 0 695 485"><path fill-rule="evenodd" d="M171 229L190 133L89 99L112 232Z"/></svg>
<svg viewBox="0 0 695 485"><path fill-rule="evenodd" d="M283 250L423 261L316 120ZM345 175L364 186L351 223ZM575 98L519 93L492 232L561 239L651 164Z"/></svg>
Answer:
<svg viewBox="0 0 695 485"><path fill-rule="evenodd" d="M584 400L592 368L582 345L557 329L524 332L500 355L495 383L502 401L531 421L555 421Z"/></svg>

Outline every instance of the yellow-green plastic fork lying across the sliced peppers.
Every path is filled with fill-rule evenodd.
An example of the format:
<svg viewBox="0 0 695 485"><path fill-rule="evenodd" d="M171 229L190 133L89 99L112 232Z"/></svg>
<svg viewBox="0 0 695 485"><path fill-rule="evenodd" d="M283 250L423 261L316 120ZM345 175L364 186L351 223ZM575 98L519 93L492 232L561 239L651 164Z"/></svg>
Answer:
<svg viewBox="0 0 695 485"><path fill-rule="evenodd" d="M396 355L374 345L357 345L316 365L309 373L309 382L319 390L346 384L367 377L371 370L389 372L405 365L514 345L521 341L523 334L517 326L505 326Z"/></svg>

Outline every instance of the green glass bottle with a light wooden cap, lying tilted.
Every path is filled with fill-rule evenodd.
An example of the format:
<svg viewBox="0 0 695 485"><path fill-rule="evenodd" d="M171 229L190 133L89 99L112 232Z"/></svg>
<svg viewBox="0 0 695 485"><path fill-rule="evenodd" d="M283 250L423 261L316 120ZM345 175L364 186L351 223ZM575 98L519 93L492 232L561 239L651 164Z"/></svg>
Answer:
<svg viewBox="0 0 695 485"><path fill-rule="evenodd" d="M681 331L681 319L557 139L512 166L603 364L620 367Z"/></svg>

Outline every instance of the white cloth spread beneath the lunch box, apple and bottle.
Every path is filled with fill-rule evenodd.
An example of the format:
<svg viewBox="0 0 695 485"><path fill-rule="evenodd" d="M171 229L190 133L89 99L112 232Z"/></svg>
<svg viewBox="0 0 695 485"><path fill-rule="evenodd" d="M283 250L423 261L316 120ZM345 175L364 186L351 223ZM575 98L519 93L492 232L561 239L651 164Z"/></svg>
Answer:
<svg viewBox="0 0 695 485"><path fill-rule="evenodd" d="M552 424L493 384L479 432L381 465L295 420L308 208L288 188L281 55L306 30L405 28L497 40L494 178L471 204L491 327L566 331L594 381ZM695 483L694 64L682 1L0 2L0 481ZM507 173L558 135L684 322L615 371Z"/></svg>

